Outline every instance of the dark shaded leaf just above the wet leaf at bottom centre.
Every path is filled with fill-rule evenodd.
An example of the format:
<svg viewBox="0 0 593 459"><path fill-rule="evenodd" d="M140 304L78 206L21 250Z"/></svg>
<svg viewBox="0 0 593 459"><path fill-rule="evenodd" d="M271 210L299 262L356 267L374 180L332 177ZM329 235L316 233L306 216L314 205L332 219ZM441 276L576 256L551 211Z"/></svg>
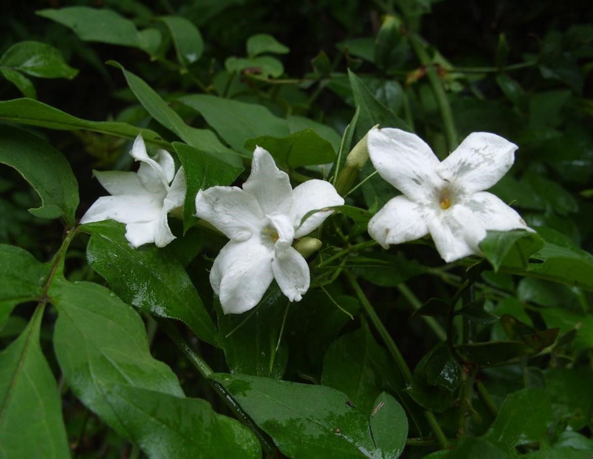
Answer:
<svg viewBox="0 0 593 459"><path fill-rule="evenodd" d="M382 391L396 393L405 386L368 326L331 343L323 360L321 384L345 393L356 408L367 414Z"/></svg>

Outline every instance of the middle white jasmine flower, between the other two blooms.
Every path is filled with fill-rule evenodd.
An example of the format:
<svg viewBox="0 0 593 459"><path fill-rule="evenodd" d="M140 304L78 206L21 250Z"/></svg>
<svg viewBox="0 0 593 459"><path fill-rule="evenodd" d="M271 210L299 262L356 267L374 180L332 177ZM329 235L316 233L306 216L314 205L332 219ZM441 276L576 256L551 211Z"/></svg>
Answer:
<svg viewBox="0 0 593 459"><path fill-rule="evenodd" d="M292 242L321 225L331 210L314 213L302 225L301 220L314 209L343 203L327 181L308 180L293 190L288 175L259 146L243 189L215 186L200 190L196 215L231 239L210 272L224 313L240 314L253 308L274 278L290 301L300 301L309 288L310 273Z"/></svg>

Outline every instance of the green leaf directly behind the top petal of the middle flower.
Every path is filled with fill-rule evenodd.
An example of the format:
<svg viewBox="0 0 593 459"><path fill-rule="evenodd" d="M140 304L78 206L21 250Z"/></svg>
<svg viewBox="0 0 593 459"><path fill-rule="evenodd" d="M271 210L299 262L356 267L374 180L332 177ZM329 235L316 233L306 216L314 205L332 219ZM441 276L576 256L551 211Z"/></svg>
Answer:
<svg viewBox="0 0 593 459"><path fill-rule="evenodd" d="M283 138L266 135L250 139L245 143L245 148L253 151L256 145L269 151L278 164L288 167L327 164L336 158L330 142L313 129L305 129Z"/></svg>

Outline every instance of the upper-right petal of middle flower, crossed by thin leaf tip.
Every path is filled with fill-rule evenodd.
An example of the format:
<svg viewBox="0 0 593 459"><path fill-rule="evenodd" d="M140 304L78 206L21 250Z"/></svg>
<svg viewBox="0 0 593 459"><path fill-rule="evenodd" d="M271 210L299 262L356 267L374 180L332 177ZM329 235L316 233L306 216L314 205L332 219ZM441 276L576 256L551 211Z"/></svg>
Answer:
<svg viewBox="0 0 593 459"><path fill-rule="evenodd" d="M295 237L302 237L319 227L333 211L314 213L301 225L302 218L310 211L331 206L341 206L344 203L342 196L336 189L324 180L307 180L297 186L292 192L292 205L288 215L297 231ZM301 225L301 226L299 226Z"/></svg>

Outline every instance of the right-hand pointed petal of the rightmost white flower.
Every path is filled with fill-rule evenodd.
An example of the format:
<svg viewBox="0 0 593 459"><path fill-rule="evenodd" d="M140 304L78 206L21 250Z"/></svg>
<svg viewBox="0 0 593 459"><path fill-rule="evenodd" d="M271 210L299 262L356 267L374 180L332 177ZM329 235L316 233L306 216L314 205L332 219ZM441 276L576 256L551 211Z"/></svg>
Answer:
<svg viewBox="0 0 593 459"><path fill-rule="evenodd" d="M514 209L506 205L498 196L488 192L478 192L469 196L463 203L473 213L485 229L492 231L509 231L511 229L527 229L527 226Z"/></svg>

